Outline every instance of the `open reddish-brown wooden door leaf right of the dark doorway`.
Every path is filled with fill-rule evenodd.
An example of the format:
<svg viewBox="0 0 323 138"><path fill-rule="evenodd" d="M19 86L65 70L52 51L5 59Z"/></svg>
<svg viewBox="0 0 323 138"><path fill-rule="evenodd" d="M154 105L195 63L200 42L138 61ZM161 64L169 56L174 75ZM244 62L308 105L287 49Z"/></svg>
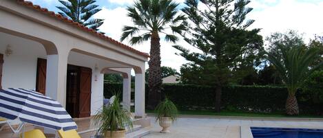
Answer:
<svg viewBox="0 0 323 138"><path fill-rule="evenodd" d="M80 67L79 117L90 117L92 69Z"/></svg>

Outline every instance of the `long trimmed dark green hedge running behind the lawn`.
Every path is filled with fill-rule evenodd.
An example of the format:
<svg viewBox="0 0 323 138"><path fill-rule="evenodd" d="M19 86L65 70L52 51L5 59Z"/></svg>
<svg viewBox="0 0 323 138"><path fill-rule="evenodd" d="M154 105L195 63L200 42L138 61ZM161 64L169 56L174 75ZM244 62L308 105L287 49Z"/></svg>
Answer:
<svg viewBox="0 0 323 138"><path fill-rule="evenodd" d="M105 84L105 95L109 89L121 89L122 84ZM148 87L146 85L146 104ZM180 110L210 110L215 106L215 88L193 84L163 84L163 97L168 97ZM315 108L306 93L298 93L301 113L314 113ZM222 89L222 109L257 113L283 112L287 97L285 87L231 86Z"/></svg>

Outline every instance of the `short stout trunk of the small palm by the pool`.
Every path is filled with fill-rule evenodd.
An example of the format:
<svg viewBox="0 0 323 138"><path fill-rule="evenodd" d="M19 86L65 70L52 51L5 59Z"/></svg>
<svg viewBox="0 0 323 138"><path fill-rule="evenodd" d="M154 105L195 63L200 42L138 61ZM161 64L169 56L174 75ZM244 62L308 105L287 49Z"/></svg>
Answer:
<svg viewBox="0 0 323 138"><path fill-rule="evenodd" d="M286 100L286 114L287 115L298 115L300 111L298 110L298 100L295 95L290 95Z"/></svg>

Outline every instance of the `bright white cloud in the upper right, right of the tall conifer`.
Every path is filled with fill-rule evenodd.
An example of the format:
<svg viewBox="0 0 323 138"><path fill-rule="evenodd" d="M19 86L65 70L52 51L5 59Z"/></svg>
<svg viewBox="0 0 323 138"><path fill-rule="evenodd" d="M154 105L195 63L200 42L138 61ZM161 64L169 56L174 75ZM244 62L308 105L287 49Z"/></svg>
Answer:
<svg viewBox="0 0 323 138"><path fill-rule="evenodd" d="M267 0L269 1L269 0ZM260 4L253 2L253 6ZM262 10L256 10L249 14L250 19L255 19L251 28L262 28L260 34L266 37L272 32L285 32L286 30L298 30L305 33L306 40L313 38L313 34L323 33L323 2L304 3L295 0L279 1L275 5L264 5Z"/></svg>

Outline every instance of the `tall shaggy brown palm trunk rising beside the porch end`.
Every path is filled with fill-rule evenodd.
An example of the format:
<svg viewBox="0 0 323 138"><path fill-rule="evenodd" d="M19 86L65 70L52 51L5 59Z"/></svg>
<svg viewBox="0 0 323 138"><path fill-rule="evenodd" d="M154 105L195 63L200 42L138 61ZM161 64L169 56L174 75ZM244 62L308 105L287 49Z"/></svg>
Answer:
<svg viewBox="0 0 323 138"><path fill-rule="evenodd" d="M160 102L161 93L161 69L160 69L160 38L158 33L152 34L152 40L150 42L150 60L149 64L149 77L148 77L148 105L147 108L152 110Z"/></svg>

